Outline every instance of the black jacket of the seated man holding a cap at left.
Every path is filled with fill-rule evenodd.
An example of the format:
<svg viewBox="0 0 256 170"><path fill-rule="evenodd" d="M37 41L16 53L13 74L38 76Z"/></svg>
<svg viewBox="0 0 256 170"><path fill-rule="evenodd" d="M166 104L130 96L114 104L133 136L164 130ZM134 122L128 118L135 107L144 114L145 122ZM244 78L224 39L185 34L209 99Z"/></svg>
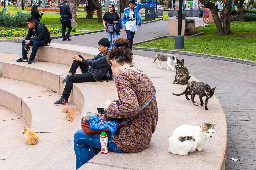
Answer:
<svg viewBox="0 0 256 170"><path fill-rule="evenodd" d="M27 34L25 40L30 40L30 43L33 43L34 41L44 40L45 43L48 44L48 36L47 36L46 30L42 25L39 25L38 31L37 31L37 25L38 24L39 23L36 20L35 28L29 28L28 29L28 34ZM31 38L32 36L33 36L33 38Z"/></svg>

